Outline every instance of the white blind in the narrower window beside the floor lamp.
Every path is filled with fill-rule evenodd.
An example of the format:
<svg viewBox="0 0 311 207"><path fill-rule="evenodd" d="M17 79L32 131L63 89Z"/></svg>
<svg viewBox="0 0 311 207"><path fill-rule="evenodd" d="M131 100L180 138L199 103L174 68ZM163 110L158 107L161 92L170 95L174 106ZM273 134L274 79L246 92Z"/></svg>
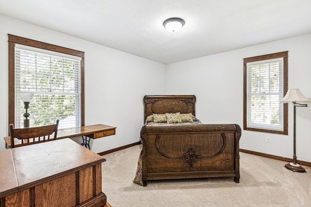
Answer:
<svg viewBox="0 0 311 207"><path fill-rule="evenodd" d="M283 58L247 63L247 127L283 131Z"/></svg>

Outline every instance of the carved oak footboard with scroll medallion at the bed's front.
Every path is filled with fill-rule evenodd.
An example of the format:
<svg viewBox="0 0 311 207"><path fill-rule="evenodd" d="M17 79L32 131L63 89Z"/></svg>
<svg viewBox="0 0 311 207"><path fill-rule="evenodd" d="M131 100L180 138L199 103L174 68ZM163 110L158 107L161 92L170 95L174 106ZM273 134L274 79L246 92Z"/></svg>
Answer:
<svg viewBox="0 0 311 207"><path fill-rule="evenodd" d="M237 124L144 125L142 181L234 177L239 183Z"/></svg>

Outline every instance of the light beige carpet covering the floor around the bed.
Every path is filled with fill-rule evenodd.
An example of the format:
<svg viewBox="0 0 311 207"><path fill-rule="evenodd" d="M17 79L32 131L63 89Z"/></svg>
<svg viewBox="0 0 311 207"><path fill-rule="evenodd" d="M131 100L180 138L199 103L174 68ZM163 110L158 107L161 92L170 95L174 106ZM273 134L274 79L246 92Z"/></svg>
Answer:
<svg viewBox="0 0 311 207"><path fill-rule="evenodd" d="M311 167L240 153L240 183L233 178L133 183L142 145L104 155L103 192L112 207L311 207Z"/></svg>

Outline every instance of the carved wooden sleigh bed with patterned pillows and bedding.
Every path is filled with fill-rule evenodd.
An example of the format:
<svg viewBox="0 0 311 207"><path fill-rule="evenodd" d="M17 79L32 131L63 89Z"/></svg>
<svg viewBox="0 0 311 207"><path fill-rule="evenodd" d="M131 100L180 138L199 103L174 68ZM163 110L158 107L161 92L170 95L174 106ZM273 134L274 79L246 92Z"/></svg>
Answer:
<svg viewBox="0 0 311 207"><path fill-rule="evenodd" d="M133 182L233 177L239 183L240 126L201 123L195 102L194 95L144 96L142 150Z"/></svg>

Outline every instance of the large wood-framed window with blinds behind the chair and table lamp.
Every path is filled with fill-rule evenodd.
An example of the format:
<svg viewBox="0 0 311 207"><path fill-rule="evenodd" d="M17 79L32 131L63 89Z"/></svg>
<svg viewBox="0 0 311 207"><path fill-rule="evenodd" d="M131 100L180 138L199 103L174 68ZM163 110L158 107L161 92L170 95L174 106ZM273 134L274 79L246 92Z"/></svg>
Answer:
<svg viewBox="0 0 311 207"><path fill-rule="evenodd" d="M9 123L23 127L20 93L34 93L30 126L84 126L84 52L9 35Z"/></svg>

